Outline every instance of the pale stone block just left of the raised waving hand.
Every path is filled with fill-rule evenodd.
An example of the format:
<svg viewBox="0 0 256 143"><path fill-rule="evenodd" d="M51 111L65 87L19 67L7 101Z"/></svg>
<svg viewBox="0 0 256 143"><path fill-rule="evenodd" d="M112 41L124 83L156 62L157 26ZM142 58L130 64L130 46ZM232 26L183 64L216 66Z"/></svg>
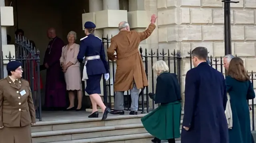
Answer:
<svg viewBox="0 0 256 143"><path fill-rule="evenodd" d="M128 23L130 28L146 28L148 27L147 13L145 10L136 10L128 12Z"/></svg>

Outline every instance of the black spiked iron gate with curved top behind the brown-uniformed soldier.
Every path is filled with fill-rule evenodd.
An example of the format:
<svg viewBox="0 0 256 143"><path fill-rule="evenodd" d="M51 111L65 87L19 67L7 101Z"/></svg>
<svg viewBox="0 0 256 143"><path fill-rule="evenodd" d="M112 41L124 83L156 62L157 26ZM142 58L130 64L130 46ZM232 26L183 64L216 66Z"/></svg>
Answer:
<svg viewBox="0 0 256 143"><path fill-rule="evenodd" d="M20 61L22 63L22 78L28 80L32 91L34 106L36 109L36 118L42 120L41 109L41 80L40 80L40 57L39 50L33 47L32 43L26 37L15 37L15 56L9 52L4 55L4 63L9 61Z"/></svg>

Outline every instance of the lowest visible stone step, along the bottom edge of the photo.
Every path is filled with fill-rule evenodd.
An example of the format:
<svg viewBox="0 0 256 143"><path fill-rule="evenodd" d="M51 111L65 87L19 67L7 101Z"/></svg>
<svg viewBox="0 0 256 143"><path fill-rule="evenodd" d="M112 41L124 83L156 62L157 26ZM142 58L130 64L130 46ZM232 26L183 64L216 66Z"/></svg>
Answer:
<svg viewBox="0 0 256 143"><path fill-rule="evenodd" d="M111 137L55 141L48 143L151 143L151 139L153 139L153 137L149 133L138 133L131 135L117 135ZM177 141L176 143L180 143L180 141Z"/></svg>

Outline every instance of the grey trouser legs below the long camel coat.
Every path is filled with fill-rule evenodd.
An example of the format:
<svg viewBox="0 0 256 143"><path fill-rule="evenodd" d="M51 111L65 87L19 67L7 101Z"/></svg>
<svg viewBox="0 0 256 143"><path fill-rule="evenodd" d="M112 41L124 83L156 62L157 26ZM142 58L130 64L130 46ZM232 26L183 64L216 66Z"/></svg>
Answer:
<svg viewBox="0 0 256 143"><path fill-rule="evenodd" d="M130 94L132 98L131 111L138 111L139 90L135 82L133 83L132 89L130 89ZM116 91L114 102L114 110L124 110L124 91Z"/></svg>

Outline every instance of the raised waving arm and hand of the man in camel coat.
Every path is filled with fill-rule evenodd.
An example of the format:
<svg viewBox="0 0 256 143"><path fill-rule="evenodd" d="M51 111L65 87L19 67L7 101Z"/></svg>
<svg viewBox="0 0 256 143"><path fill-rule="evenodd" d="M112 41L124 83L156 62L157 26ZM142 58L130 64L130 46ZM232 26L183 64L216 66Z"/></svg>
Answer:
<svg viewBox="0 0 256 143"><path fill-rule="evenodd" d="M138 34L140 35L140 41L147 39L151 35L151 33L154 31L154 29L156 28L156 25L155 25L156 18L157 18L157 16L155 14L153 14L151 16L151 23L148 26L148 28L143 32L138 32Z"/></svg>

